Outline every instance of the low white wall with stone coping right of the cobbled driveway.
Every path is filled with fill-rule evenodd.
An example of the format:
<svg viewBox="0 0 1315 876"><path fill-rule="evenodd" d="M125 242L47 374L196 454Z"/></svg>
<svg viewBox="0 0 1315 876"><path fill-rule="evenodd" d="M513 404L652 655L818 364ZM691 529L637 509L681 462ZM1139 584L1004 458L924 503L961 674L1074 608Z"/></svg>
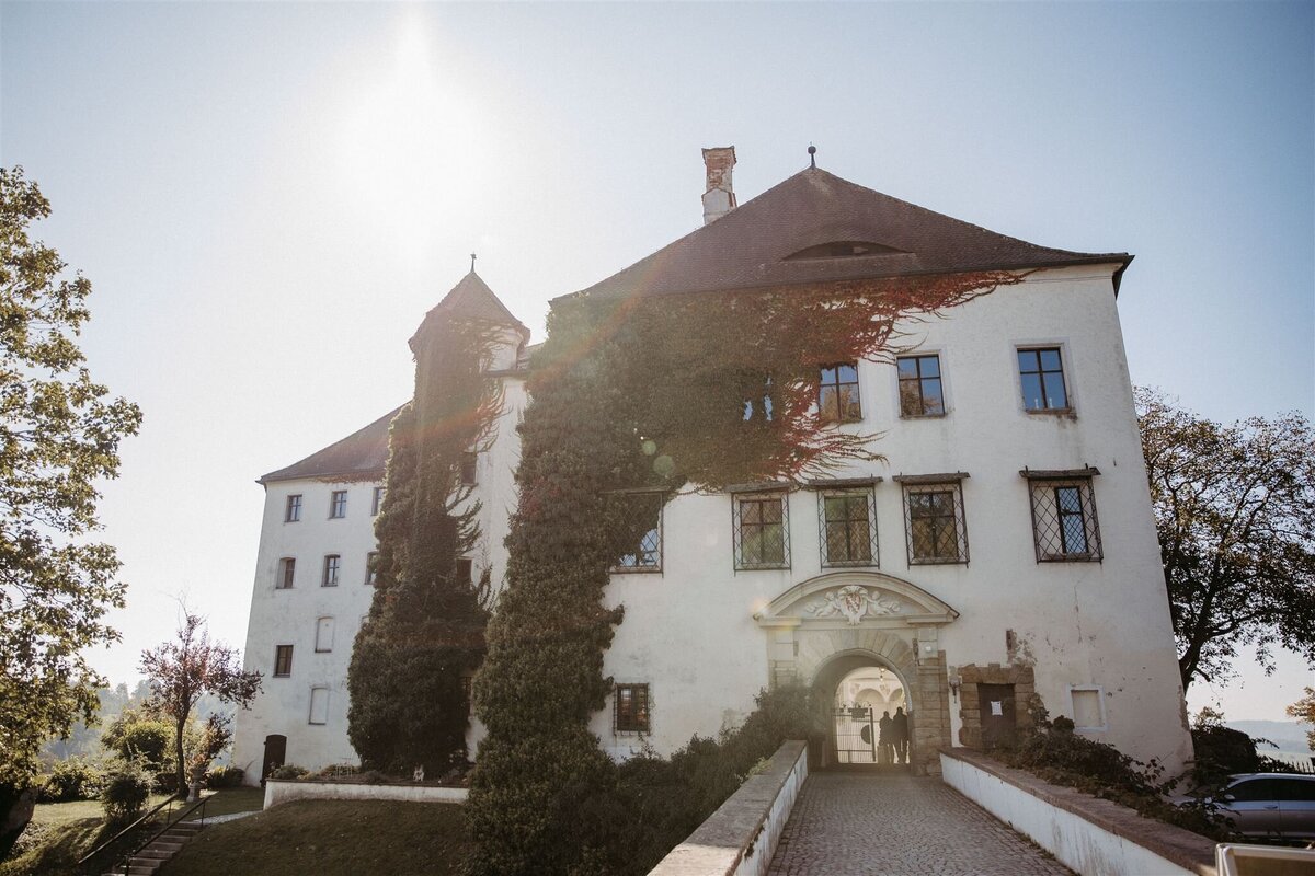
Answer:
<svg viewBox="0 0 1315 876"><path fill-rule="evenodd" d="M942 780L1082 876L1215 876L1215 843L976 751L942 750Z"/></svg>

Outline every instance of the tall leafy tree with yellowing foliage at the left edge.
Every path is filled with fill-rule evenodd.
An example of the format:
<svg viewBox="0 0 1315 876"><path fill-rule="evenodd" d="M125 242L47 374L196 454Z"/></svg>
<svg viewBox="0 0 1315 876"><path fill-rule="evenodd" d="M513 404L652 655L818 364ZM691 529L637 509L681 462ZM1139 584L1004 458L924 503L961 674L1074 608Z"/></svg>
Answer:
<svg viewBox="0 0 1315 876"><path fill-rule="evenodd" d="M84 366L91 282L29 236L49 214L21 167L0 168L0 825L30 801L41 745L96 712L105 682L82 654L118 640L103 619L125 586L114 549L85 536L142 419ZM0 854L20 833L0 829Z"/></svg>

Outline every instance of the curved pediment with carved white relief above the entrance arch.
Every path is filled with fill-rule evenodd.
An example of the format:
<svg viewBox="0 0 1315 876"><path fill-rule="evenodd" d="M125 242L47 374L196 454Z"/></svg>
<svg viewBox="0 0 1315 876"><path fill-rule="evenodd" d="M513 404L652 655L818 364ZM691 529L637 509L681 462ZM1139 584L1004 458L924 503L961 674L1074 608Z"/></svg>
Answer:
<svg viewBox="0 0 1315 876"><path fill-rule="evenodd" d="M948 624L959 612L907 580L873 571L811 578L773 599L753 619L763 626Z"/></svg>

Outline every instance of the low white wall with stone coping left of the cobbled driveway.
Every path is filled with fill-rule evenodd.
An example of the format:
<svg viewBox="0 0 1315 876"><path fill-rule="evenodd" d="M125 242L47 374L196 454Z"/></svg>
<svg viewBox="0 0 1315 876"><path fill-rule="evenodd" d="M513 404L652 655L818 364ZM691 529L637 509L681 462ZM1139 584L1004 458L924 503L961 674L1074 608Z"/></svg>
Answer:
<svg viewBox="0 0 1315 876"><path fill-rule="evenodd" d="M806 742L785 742L767 768L671 850L648 876L764 876L809 777Z"/></svg>

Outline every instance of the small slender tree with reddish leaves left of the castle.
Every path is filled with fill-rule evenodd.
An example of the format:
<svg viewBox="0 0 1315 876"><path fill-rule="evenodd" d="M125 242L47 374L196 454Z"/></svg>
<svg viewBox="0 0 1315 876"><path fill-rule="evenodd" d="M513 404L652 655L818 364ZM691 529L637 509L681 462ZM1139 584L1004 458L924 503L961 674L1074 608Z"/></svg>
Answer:
<svg viewBox="0 0 1315 876"><path fill-rule="evenodd" d="M227 741L224 735L216 749L216 734L227 733L229 718L212 714L203 738L192 746L192 756L187 756L183 742L197 700L204 693L213 693L225 703L247 707L260 692L260 674L243 672L237 651L212 642L205 621L185 608L175 641L142 653L142 671L151 684L146 708L167 717L174 725L175 777L179 793L185 793L188 771L204 774Z"/></svg>

